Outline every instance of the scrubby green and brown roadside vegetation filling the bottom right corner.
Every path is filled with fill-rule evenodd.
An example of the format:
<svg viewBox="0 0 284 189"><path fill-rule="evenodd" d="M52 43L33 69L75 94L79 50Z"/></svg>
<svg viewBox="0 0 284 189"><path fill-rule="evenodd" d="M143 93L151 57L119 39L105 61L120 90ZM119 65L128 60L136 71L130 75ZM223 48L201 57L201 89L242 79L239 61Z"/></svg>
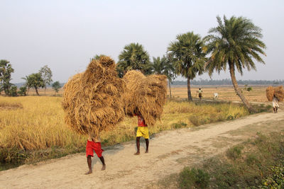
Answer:
<svg viewBox="0 0 284 189"><path fill-rule="evenodd" d="M257 133L199 168L185 167L180 188L283 188L284 132Z"/></svg>

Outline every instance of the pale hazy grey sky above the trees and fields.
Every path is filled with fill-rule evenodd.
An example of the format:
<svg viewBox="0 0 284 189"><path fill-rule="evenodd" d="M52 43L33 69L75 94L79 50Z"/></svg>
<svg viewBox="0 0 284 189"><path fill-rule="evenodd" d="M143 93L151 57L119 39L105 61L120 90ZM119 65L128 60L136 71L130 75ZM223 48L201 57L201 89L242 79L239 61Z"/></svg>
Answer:
<svg viewBox="0 0 284 189"><path fill-rule="evenodd" d="M202 37L216 16L244 16L263 29L266 64L237 79L284 79L284 1L70 1L0 0L0 59L11 62L12 83L48 65L53 81L84 71L97 54L116 62L125 45L138 42L152 57L163 56L176 35ZM209 79L208 74L196 79ZM229 71L212 79L230 78Z"/></svg>

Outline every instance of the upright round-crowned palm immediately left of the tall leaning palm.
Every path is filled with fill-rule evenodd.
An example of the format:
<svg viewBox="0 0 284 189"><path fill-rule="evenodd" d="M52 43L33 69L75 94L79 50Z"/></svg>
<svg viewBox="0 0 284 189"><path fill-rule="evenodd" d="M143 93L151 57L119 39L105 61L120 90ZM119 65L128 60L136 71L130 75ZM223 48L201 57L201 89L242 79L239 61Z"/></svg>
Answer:
<svg viewBox="0 0 284 189"><path fill-rule="evenodd" d="M171 42L168 52L173 56L176 74L181 74L187 79L187 98L192 101L190 80L204 71L206 57L204 42L200 35L193 32L177 36L177 41Z"/></svg>

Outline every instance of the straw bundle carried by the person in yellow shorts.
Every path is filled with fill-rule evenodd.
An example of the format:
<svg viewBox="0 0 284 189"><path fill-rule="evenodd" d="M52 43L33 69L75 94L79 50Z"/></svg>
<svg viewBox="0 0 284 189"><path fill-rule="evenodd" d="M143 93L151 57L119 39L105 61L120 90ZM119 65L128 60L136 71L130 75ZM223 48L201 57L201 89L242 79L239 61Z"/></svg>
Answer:
<svg viewBox="0 0 284 189"><path fill-rule="evenodd" d="M140 71L128 71L124 76L124 111L133 116L141 113L147 125L154 125L163 113L167 92L167 77L144 76Z"/></svg>

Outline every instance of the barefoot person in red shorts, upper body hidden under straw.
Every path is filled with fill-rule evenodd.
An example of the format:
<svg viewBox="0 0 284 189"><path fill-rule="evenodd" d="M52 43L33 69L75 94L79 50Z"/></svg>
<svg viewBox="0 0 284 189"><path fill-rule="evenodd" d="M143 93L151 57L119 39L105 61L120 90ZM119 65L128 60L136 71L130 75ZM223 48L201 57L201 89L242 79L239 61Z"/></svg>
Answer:
<svg viewBox="0 0 284 189"><path fill-rule="evenodd" d="M106 169L106 164L104 164L104 156L102 156L101 139L99 137L91 137L87 139L86 146L86 156L87 156L87 164L89 167L89 171L84 173L85 175L89 175L92 173L92 157L94 156L94 152L96 152L99 159L102 161L102 171Z"/></svg>

